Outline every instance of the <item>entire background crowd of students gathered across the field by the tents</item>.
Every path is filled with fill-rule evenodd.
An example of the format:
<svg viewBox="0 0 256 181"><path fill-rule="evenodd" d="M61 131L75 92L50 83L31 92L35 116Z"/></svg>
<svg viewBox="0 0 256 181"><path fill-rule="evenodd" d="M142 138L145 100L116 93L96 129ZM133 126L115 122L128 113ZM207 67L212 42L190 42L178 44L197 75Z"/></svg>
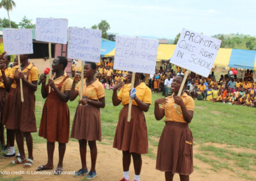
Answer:
<svg viewBox="0 0 256 181"><path fill-rule="evenodd" d="M177 67L173 69L156 69L154 75L145 75L141 81L145 82L153 92L163 92L163 96L172 95L170 89L175 76L185 73L185 69ZM113 63L100 64L96 76L106 89L113 89L118 82L129 83L126 80L127 71L113 69ZM207 77L191 72L188 76L186 92L194 99L228 103L232 105L256 106L256 83L253 81L253 71L247 70L244 78L236 75L221 75L216 80L214 72Z"/></svg>

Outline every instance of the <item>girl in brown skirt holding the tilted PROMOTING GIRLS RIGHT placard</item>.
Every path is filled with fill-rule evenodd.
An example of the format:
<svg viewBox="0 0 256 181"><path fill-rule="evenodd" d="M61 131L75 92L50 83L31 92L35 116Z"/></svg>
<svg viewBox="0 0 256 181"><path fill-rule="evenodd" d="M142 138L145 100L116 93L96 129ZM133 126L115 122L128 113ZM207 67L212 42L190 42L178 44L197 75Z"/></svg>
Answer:
<svg viewBox="0 0 256 181"><path fill-rule="evenodd" d="M177 96L183 78L184 75L177 75L173 79L172 96L155 102L156 119L166 118L157 150L156 169L164 171L168 181L173 180L175 173L179 173L181 181L188 181L193 172L193 136L188 125L193 118L195 102L186 92Z"/></svg>

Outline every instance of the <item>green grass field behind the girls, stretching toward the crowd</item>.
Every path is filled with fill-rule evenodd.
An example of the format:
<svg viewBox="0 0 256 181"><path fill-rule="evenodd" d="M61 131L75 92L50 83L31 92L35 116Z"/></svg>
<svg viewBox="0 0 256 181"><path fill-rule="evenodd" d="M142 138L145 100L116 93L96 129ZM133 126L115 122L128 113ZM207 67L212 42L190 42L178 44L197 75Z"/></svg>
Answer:
<svg viewBox="0 0 256 181"><path fill-rule="evenodd" d="M101 109L102 141L112 144L118 114L122 106L114 107L111 102L112 91L106 90L106 107ZM153 94L152 101L161 98L161 94ZM44 99L40 87L36 91L36 125L39 128ZM195 101L195 113L189 125L195 141L196 159L211 165L216 171L227 169L234 175L255 180L250 173L256 172L256 109L245 106ZM77 100L68 102L70 108L70 129L76 112ZM148 129L148 156L156 158L159 136L164 127L163 120L156 121L154 104L145 113ZM45 143L45 139L33 133L35 143ZM74 140L74 139L71 139ZM223 146L224 145L224 146ZM195 165L195 169L200 169ZM204 170L202 170L204 171Z"/></svg>

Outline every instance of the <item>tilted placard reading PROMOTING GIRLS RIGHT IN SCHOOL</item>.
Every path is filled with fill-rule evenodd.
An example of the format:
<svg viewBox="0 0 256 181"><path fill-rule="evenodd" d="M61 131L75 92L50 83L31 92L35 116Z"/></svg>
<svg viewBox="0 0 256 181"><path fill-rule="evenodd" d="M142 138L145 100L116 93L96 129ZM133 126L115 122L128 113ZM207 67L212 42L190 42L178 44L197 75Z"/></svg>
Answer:
<svg viewBox="0 0 256 181"><path fill-rule="evenodd" d="M182 29L170 62L202 76L209 76L221 40Z"/></svg>

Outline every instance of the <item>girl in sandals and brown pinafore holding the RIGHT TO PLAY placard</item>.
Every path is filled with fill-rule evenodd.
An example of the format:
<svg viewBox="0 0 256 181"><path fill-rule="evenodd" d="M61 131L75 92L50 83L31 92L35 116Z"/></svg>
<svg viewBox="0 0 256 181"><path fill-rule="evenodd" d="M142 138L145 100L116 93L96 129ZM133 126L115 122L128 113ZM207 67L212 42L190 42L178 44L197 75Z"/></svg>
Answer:
<svg viewBox="0 0 256 181"><path fill-rule="evenodd" d="M6 129L15 131L15 137L20 152L20 157L12 161L12 164L24 163L24 168L30 168L33 164L33 138L31 133L36 132L35 118L35 91L37 89L38 69L28 62L28 55L20 55L21 72L19 66L12 69L10 78L4 78L4 86L10 87L13 83L12 102L4 110L4 124ZM20 96L20 78L23 83L24 102ZM28 147L28 159L24 152L24 137Z"/></svg>

